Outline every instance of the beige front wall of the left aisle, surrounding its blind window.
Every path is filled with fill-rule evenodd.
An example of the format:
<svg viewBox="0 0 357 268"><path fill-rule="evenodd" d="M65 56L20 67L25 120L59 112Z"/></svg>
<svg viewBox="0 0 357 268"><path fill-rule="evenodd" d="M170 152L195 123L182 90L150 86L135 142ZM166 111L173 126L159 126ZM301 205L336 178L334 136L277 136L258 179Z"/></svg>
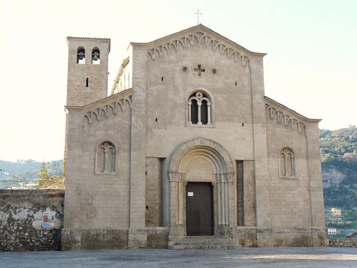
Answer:
<svg viewBox="0 0 357 268"><path fill-rule="evenodd" d="M92 105L68 108L65 229L130 227L130 198L133 194L130 190L130 95L131 91L126 90ZM116 106L116 113L107 105ZM123 111L121 105L125 105ZM93 114L99 107L109 110L107 117L102 111L101 119L97 120ZM92 118L91 124L85 115ZM98 144L104 141L115 147L114 173L97 172L96 152ZM143 196L145 198L145 194Z"/></svg>

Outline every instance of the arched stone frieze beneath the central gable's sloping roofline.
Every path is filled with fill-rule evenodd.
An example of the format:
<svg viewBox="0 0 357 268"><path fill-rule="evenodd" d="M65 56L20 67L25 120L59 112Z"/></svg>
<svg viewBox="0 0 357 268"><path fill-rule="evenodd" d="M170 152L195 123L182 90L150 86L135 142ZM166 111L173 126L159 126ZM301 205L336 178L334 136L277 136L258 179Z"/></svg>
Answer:
<svg viewBox="0 0 357 268"><path fill-rule="evenodd" d="M172 52L177 52L180 46L185 49L189 45L193 45L195 42L200 45L205 45L205 47L209 47L213 51L218 50L221 55L226 55L227 59L233 59L234 62L241 63L243 66L249 66L249 58L242 52L238 52L234 50L234 48L229 47L214 37L202 32L189 34L176 40L169 41L165 44L150 48L147 51L147 55L150 56L151 60L155 60L157 56L161 57L164 54L170 56Z"/></svg>

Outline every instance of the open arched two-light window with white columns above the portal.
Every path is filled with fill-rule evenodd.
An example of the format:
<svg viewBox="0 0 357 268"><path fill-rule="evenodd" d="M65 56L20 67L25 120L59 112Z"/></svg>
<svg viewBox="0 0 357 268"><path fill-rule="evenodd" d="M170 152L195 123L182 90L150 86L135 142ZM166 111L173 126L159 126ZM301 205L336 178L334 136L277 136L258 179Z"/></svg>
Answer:
<svg viewBox="0 0 357 268"><path fill-rule="evenodd" d="M188 124L212 125L211 100L205 92L197 91L188 99Z"/></svg>

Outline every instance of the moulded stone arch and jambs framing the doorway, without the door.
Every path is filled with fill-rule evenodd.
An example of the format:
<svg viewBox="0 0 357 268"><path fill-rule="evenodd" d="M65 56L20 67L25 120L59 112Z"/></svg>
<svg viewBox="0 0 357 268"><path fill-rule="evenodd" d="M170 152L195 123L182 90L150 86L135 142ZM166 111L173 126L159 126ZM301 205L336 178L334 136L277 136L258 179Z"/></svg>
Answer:
<svg viewBox="0 0 357 268"><path fill-rule="evenodd" d="M170 237L186 236L186 185L192 180L187 169L194 161L205 162L213 174L204 182L213 186L214 235L225 235L235 223L235 169L233 161L221 144L198 137L182 143L173 153L169 166Z"/></svg>

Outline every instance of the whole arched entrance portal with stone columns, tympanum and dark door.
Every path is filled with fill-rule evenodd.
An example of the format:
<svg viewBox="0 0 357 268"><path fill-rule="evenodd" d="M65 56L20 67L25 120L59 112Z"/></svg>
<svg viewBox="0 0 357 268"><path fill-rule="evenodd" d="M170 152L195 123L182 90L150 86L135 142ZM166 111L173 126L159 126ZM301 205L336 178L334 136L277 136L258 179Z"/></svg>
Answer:
<svg viewBox="0 0 357 268"><path fill-rule="evenodd" d="M192 234L207 235L210 226L200 221L211 218L211 234L227 235L228 227L235 223L235 172L233 161L222 145L205 138L184 142L171 157L169 178L171 240ZM208 194L211 201L205 199ZM196 215L196 219L192 219L192 215Z"/></svg>

